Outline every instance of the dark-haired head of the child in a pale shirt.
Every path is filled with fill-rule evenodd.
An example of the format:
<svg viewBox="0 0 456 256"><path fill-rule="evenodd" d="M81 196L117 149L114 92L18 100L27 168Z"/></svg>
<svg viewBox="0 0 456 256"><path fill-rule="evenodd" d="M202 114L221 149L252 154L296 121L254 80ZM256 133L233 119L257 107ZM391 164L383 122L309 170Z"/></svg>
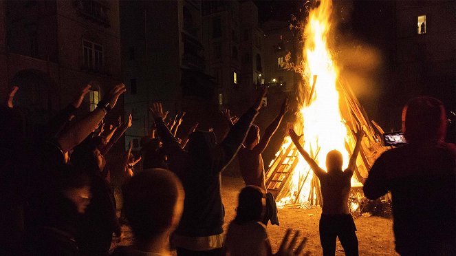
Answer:
<svg viewBox="0 0 456 256"><path fill-rule="evenodd" d="M235 222L260 221L265 213L265 196L259 186L246 186L239 193Z"/></svg>

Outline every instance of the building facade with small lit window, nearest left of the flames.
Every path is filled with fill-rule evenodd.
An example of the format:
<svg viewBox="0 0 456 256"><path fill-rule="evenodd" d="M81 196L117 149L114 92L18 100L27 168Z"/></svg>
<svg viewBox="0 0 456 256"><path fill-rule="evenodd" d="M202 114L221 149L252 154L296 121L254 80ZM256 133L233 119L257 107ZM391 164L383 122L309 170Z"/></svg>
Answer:
<svg viewBox="0 0 456 256"><path fill-rule="evenodd" d="M262 38L252 1L203 1L206 70L217 81L219 108L243 113L261 85Z"/></svg>

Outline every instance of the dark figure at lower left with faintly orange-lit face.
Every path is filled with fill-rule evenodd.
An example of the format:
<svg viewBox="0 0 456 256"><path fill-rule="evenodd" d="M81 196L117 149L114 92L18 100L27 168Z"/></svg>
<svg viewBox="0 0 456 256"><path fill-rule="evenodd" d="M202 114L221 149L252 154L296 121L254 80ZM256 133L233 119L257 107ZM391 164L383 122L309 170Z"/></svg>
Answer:
<svg viewBox="0 0 456 256"><path fill-rule="evenodd" d="M25 235L25 255L82 255L76 242L80 218L90 202L90 182L71 164L58 168L54 176L55 192L43 202L45 217Z"/></svg>

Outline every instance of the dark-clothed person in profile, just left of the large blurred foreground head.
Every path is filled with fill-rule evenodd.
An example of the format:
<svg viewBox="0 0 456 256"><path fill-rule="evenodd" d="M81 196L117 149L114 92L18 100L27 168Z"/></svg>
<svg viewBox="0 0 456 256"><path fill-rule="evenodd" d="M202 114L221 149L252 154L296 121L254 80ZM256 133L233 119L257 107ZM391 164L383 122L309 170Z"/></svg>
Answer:
<svg viewBox="0 0 456 256"><path fill-rule="evenodd" d="M89 138L78 145L72 163L85 171L91 182L91 203L78 227L80 250L85 255L108 255L112 234L120 237L121 231L111 186L102 177L106 162L98 150L98 140Z"/></svg>

